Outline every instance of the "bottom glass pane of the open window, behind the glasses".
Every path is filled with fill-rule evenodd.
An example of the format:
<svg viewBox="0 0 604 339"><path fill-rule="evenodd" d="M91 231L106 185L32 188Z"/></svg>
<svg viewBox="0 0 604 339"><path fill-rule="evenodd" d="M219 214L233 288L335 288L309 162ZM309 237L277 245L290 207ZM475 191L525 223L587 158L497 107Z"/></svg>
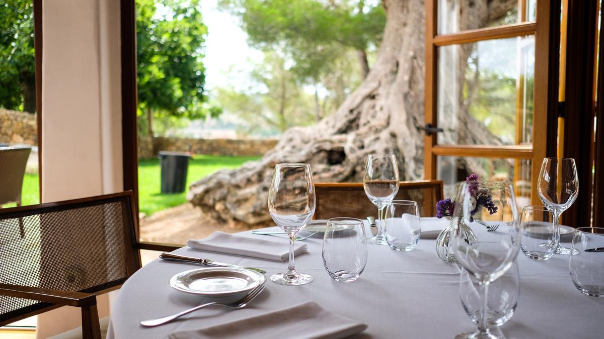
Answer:
<svg viewBox="0 0 604 339"><path fill-rule="evenodd" d="M437 169L438 179L443 180L445 197L454 197L459 183L475 173L484 180L514 182L518 208L531 204L530 159L437 156Z"/></svg>

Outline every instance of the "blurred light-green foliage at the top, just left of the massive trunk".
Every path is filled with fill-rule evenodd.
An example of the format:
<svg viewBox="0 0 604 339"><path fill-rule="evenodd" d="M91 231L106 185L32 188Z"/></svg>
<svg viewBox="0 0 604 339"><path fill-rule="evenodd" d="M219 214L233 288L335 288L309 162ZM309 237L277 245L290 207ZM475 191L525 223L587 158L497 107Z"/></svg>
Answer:
<svg viewBox="0 0 604 339"><path fill-rule="evenodd" d="M342 55L353 49L368 70L367 49L379 45L386 22L379 2L364 0L220 0L242 19L252 45L280 49L294 61L292 71L318 83ZM364 56L362 56L364 55Z"/></svg>

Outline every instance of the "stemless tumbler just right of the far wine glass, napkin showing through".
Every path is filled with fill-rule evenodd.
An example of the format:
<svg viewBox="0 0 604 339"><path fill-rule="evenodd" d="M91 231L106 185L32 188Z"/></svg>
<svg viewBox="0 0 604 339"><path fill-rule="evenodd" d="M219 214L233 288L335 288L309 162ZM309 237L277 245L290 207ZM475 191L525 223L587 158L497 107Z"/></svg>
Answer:
<svg viewBox="0 0 604 339"><path fill-rule="evenodd" d="M397 251L410 251L420 235L420 219L417 203L409 200L393 200L386 208L384 232L388 246Z"/></svg>

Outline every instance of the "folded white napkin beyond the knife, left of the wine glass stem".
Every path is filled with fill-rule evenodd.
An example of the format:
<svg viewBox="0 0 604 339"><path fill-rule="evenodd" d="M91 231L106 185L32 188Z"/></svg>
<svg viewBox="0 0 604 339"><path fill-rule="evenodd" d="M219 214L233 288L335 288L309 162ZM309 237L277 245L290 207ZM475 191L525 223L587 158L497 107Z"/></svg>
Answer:
<svg viewBox="0 0 604 339"><path fill-rule="evenodd" d="M289 258L289 244L286 242L245 238L218 231L205 239L190 239L187 241L187 246L196 250L253 256L267 260L284 261ZM307 252L306 244L294 246L295 255L304 252Z"/></svg>

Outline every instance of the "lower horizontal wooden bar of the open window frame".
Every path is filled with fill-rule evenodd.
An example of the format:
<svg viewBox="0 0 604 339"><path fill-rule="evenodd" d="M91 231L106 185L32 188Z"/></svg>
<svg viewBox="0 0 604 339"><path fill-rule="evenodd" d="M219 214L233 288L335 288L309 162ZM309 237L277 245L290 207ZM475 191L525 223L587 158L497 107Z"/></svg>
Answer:
<svg viewBox="0 0 604 339"><path fill-rule="evenodd" d="M439 156L531 159L531 145L435 145L432 152Z"/></svg>

